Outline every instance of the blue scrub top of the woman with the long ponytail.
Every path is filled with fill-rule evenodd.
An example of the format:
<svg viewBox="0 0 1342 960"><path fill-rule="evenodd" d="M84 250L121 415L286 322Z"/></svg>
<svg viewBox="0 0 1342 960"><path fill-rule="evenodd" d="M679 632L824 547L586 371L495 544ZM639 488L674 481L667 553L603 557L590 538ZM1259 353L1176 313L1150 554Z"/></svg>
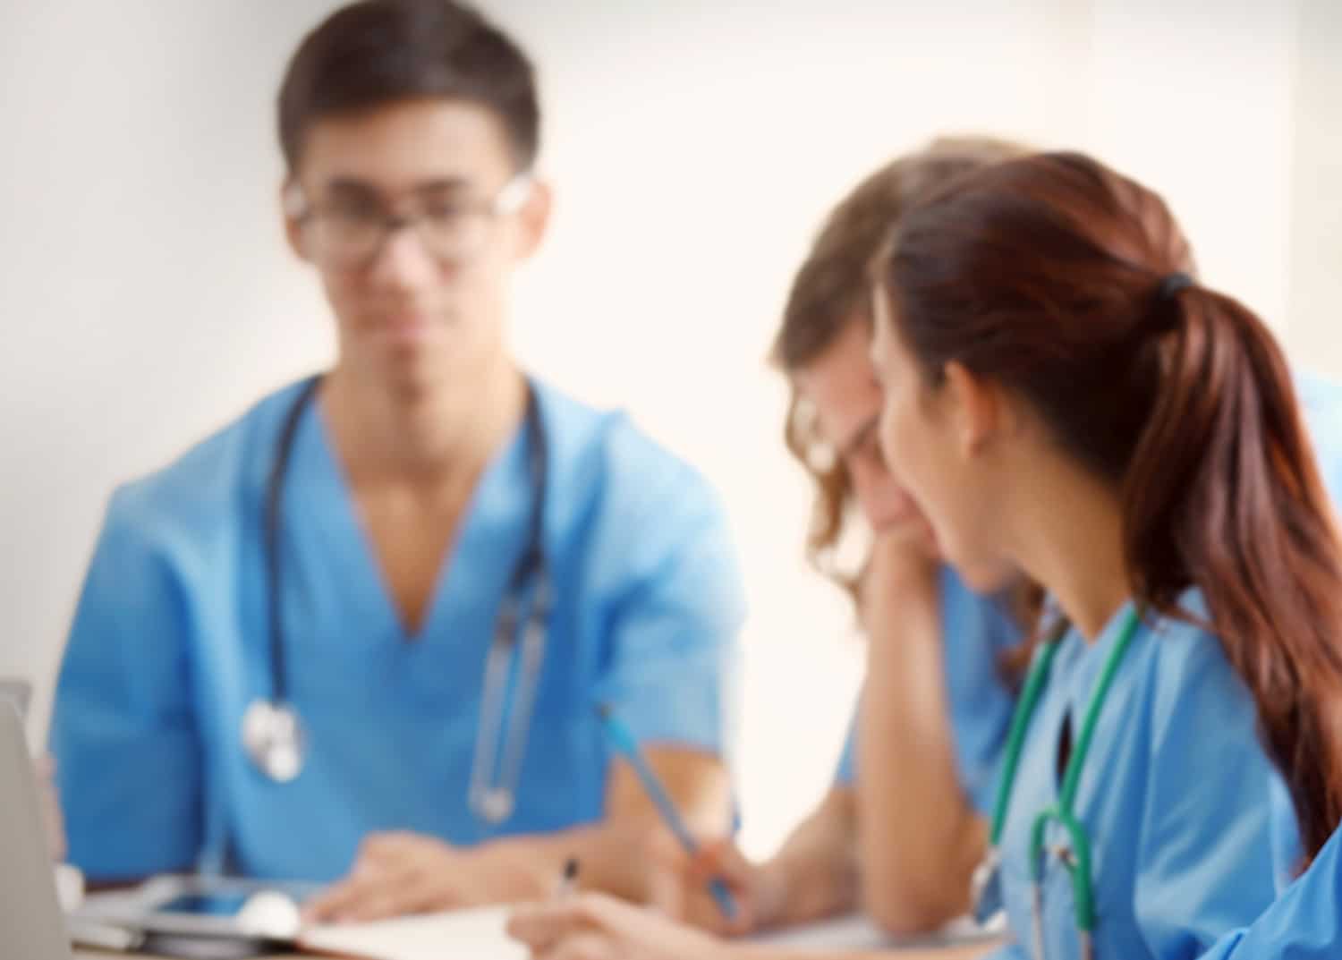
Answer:
<svg viewBox="0 0 1342 960"><path fill-rule="evenodd" d="M1206 616L1196 591L1181 604ZM1053 659L1001 842L1002 894L1017 944L994 957L1025 956L1031 827L1057 800L1064 722L1070 717L1075 742L1130 610L1125 604L1092 644L1070 632ZM1253 700L1216 636L1169 619L1137 628L1095 728L1074 807L1091 845L1095 956L1192 957L1272 902L1282 823L1294 827L1295 820L1276 806L1284 791L1256 725ZM1045 841L1047 849L1063 842L1056 824ZM1044 940L1052 960L1080 957L1072 887L1056 858L1044 875Z"/></svg>

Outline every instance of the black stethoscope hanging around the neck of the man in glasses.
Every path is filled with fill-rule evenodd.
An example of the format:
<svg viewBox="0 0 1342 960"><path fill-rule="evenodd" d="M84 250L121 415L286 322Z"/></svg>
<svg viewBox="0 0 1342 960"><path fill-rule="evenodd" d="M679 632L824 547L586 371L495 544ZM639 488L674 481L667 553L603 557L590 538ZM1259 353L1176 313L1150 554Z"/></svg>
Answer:
<svg viewBox="0 0 1342 960"><path fill-rule="evenodd" d="M242 738L251 761L275 783L293 781L302 772L306 752L298 710L289 701L287 644L282 615L283 564L279 550L285 477L294 451L298 423L303 411L311 405L319 383L321 376L314 376L299 388L280 427L275 457L266 479L263 536L271 697L258 697L247 705L243 713ZM530 529L526 549L514 565L503 593L503 603L494 626L494 640L484 665L484 691L467 794L475 815L491 824L509 819L517 806L526 737L545 659L546 620L554 600L550 567L544 546L549 451L535 387L530 381L526 399L526 439L531 482ZM527 603L529 584L530 603ZM513 709L509 710L507 679L513 659L518 654L518 624L521 624L522 662L515 695L511 698Z"/></svg>

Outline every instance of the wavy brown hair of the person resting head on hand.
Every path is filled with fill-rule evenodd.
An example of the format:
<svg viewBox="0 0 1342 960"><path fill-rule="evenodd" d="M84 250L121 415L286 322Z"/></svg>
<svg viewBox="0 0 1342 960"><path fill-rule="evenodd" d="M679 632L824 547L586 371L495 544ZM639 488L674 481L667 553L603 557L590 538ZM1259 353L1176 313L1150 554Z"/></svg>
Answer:
<svg viewBox="0 0 1342 960"><path fill-rule="evenodd" d="M1004 140L943 137L855 187L825 219L792 281L773 345L782 372L790 377L815 363L851 324L867 322L867 267L906 208L962 173L1024 153L1025 148ZM852 503L852 482L843 462L827 457L829 444L794 384L784 439L816 485L807 559L856 597L860 575L840 569L833 556Z"/></svg>

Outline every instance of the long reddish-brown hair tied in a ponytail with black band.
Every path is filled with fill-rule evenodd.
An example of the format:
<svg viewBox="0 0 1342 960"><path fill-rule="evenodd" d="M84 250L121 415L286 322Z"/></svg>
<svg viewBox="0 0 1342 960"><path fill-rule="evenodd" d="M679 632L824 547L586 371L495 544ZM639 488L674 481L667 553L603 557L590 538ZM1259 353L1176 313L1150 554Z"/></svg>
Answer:
<svg viewBox="0 0 1342 960"><path fill-rule="evenodd" d="M1114 485L1135 599L1192 620L1201 591L1317 853L1342 816L1342 549L1272 334L1166 286L1192 263L1165 203L1080 154L969 175L894 238L879 277L929 384L997 380Z"/></svg>

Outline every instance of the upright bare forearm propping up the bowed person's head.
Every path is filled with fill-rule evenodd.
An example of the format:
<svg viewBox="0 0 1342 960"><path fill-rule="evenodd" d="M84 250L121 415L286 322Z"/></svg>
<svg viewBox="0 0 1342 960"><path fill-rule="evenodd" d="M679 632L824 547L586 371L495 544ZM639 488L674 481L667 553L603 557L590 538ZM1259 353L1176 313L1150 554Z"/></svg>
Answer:
<svg viewBox="0 0 1342 960"><path fill-rule="evenodd" d="M986 827L956 768L934 584L906 576L890 588L870 628L858 849L867 912L913 933L965 913Z"/></svg>

